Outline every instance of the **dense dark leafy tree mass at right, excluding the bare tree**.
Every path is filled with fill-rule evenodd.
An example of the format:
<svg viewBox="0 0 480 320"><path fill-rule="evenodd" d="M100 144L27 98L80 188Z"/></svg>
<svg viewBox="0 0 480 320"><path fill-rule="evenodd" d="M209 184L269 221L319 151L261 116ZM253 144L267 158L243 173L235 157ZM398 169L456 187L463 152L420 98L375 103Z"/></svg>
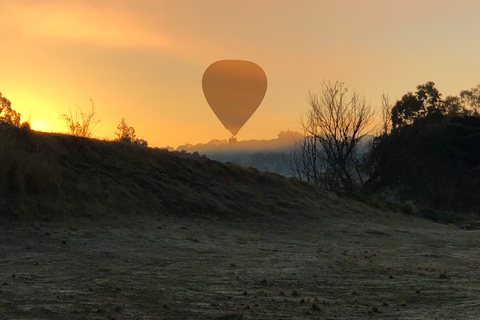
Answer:
<svg viewBox="0 0 480 320"><path fill-rule="evenodd" d="M427 82L397 101L391 131L374 139L363 191L388 189L421 208L478 212L480 117L476 98L463 96L442 99Z"/></svg>

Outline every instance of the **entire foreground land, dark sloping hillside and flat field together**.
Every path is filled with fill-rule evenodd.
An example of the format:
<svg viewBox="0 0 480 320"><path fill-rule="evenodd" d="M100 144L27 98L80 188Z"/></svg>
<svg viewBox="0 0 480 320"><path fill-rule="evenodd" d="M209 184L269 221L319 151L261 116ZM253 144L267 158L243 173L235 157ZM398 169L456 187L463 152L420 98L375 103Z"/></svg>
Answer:
<svg viewBox="0 0 480 320"><path fill-rule="evenodd" d="M2 319L478 319L478 230L0 126Z"/></svg>

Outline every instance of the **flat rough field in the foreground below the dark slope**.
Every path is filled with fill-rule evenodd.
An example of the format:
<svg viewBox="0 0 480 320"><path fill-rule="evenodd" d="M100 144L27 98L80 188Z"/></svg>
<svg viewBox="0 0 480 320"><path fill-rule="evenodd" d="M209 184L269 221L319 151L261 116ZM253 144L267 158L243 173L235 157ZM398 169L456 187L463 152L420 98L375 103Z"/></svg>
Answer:
<svg viewBox="0 0 480 320"><path fill-rule="evenodd" d="M0 227L0 318L480 319L479 236L375 213Z"/></svg>

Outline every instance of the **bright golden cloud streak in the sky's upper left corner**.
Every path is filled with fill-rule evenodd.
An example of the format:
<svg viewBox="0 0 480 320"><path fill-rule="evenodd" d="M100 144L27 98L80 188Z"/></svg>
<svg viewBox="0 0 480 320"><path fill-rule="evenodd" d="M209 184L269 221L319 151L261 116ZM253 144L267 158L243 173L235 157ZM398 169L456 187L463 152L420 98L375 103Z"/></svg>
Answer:
<svg viewBox="0 0 480 320"><path fill-rule="evenodd" d="M80 3L10 4L3 20L24 35L103 47L168 47L164 35L126 10Z"/></svg>

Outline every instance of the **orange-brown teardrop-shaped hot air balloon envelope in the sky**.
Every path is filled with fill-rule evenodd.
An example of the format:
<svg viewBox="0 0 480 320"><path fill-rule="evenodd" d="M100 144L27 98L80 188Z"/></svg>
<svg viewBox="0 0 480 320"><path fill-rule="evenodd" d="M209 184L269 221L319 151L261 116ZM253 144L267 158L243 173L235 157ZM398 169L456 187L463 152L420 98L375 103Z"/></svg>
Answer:
<svg viewBox="0 0 480 320"><path fill-rule="evenodd" d="M205 70L202 87L210 108L236 135L262 102L267 76L251 61L221 60Z"/></svg>

